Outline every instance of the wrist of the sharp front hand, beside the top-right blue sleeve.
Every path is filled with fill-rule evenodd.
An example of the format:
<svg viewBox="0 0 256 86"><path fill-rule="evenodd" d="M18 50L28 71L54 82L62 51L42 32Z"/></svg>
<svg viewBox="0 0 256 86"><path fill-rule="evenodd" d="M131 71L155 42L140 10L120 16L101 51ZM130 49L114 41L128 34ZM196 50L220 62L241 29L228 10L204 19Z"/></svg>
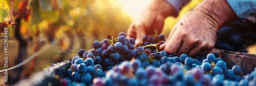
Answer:
<svg viewBox="0 0 256 86"><path fill-rule="evenodd" d="M212 20L217 29L238 18L226 0L205 0L195 8L195 11L205 14L202 17Z"/></svg>

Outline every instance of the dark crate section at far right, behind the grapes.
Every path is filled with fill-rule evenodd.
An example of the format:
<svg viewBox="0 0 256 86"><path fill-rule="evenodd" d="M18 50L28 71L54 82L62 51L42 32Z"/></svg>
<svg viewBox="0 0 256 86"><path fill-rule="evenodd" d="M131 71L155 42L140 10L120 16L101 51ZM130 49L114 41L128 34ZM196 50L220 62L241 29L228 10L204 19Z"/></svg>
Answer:
<svg viewBox="0 0 256 86"><path fill-rule="evenodd" d="M214 49L212 52L219 53L220 57L227 63L227 69L238 65L242 68L244 75L251 73L256 67L256 54L241 53Z"/></svg>

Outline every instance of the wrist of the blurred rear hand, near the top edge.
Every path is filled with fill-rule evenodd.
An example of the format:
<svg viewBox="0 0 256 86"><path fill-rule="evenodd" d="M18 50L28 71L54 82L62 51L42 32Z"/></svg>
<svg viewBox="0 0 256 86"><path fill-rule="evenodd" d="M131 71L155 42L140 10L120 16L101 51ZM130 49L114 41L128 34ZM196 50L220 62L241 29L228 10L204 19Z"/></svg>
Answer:
<svg viewBox="0 0 256 86"><path fill-rule="evenodd" d="M170 5L166 0L152 0L147 9L156 12L157 15L168 17L177 16L178 13L175 8Z"/></svg>

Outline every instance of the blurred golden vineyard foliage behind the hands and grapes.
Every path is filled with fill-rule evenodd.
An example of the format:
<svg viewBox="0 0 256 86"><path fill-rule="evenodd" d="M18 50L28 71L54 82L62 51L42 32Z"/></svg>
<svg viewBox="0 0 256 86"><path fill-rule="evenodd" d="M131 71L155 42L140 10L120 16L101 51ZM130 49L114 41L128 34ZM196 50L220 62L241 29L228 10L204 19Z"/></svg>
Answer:
<svg viewBox="0 0 256 86"><path fill-rule="evenodd" d="M166 37L179 18L193 9L203 0L190 1L179 13L178 17L165 19L162 34ZM27 3L26 3L27 2ZM108 35L117 36L127 31L132 20L150 1L147 0L15 0L13 18L26 16L20 20L20 33L28 41L24 59L38 51L44 45L53 45L39 54L32 63L27 63L24 69L34 65L29 74L73 57L79 49L89 50L94 40L102 40ZM3 27L9 30L9 68L14 66L18 57L18 42L14 37L14 29L7 25L10 20L10 0L1 0L0 32ZM27 4L27 5L26 5ZM13 19L15 22L15 19ZM3 55L3 40L1 39L0 55ZM0 65L4 60L0 60ZM4 69L3 66L0 67ZM23 72L26 73L26 72ZM28 73L26 73L28 74Z"/></svg>

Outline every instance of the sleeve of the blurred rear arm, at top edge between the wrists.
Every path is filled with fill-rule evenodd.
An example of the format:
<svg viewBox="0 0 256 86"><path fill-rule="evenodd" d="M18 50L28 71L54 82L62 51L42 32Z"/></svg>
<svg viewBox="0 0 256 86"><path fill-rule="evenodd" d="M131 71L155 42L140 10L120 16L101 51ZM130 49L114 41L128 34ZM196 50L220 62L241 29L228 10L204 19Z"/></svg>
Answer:
<svg viewBox="0 0 256 86"><path fill-rule="evenodd" d="M189 1L190 0L167 0L167 2L176 9L177 13L179 13L180 9Z"/></svg>

